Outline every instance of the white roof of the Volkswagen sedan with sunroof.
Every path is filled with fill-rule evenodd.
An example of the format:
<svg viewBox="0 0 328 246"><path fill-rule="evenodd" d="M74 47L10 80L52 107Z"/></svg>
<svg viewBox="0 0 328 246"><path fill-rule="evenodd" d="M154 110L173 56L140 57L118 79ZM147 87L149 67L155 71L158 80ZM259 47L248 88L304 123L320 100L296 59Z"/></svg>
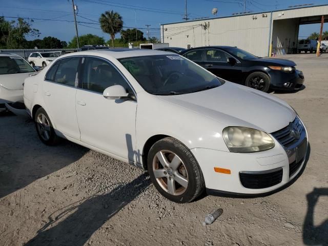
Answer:
<svg viewBox="0 0 328 246"><path fill-rule="evenodd" d="M74 55L95 55L95 56L112 56L116 59L148 56L148 55L168 55L168 52L161 50L150 49L101 49L101 50L86 50L63 55L61 57L69 57Z"/></svg>

